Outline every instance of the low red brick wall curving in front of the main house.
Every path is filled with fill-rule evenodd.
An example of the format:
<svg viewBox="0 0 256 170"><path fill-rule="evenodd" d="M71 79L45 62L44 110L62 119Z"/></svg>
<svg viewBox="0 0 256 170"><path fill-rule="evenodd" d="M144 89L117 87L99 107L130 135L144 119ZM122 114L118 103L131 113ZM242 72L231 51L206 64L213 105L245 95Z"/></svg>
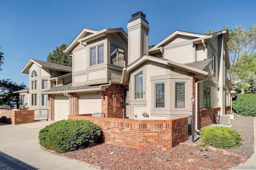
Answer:
<svg viewBox="0 0 256 170"><path fill-rule="evenodd" d="M85 114L90 115L90 114ZM144 148L171 148L188 139L188 118L170 120L134 120L69 115L68 119L90 120L101 127L105 143Z"/></svg>

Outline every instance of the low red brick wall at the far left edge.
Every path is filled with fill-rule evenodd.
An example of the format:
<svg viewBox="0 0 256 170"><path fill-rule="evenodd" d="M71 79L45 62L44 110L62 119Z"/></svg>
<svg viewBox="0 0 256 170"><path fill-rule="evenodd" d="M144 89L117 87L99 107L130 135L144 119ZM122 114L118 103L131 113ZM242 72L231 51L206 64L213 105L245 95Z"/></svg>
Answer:
<svg viewBox="0 0 256 170"><path fill-rule="evenodd" d="M34 110L0 109L0 122L9 124L24 124L34 122Z"/></svg>

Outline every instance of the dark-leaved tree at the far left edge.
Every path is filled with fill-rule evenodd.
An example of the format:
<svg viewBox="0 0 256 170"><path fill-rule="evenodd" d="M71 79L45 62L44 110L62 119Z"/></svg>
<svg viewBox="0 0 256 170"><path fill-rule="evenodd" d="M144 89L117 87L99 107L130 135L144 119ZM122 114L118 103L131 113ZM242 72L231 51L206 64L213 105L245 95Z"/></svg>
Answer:
<svg viewBox="0 0 256 170"><path fill-rule="evenodd" d="M10 105L10 102L16 102L17 108L19 108L20 96L19 93L13 93L18 90L26 88L26 85L23 83L18 85L14 82L11 82L10 79L0 80L0 98L4 103Z"/></svg>

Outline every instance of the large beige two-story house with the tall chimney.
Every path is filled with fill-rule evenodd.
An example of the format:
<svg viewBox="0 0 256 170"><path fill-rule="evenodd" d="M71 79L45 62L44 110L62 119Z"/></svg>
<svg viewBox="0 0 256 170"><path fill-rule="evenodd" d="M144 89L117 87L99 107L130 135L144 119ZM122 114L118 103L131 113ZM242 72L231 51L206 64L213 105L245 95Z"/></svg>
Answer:
<svg viewBox="0 0 256 170"><path fill-rule="evenodd" d="M232 85L228 30L203 35L174 31L148 45L149 24L142 12L122 28L84 28L64 51L72 55L72 82L48 94L50 119L105 113L106 117L171 119L199 109L230 105Z"/></svg>

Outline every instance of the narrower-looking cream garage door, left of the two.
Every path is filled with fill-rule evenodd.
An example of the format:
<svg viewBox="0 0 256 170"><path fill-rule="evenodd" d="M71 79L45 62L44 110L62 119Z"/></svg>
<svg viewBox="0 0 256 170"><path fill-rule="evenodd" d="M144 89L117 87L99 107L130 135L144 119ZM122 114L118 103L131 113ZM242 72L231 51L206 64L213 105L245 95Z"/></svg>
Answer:
<svg viewBox="0 0 256 170"><path fill-rule="evenodd" d="M54 120L68 119L69 100L66 96L54 97Z"/></svg>

